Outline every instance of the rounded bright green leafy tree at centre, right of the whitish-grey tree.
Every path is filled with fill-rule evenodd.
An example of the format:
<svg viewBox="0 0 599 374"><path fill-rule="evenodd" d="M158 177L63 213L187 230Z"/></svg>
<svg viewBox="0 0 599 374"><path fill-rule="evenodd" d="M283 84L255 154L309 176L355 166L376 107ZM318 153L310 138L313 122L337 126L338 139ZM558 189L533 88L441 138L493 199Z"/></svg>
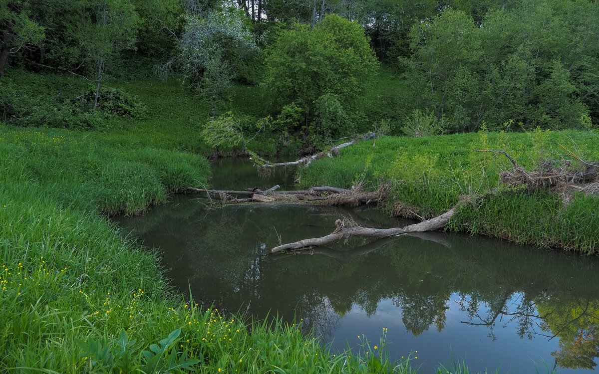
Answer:
<svg viewBox="0 0 599 374"><path fill-rule="evenodd" d="M346 116L358 116L356 105L379 63L361 25L328 14L314 28L296 23L280 31L268 49L266 67L263 84L273 110L293 103L304 115L304 124L298 126L305 130L313 124L313 132L322 133L323 119L347 123ZM324 131L328 139L344 130L347 135L348 129L329 127Z"/></svg>

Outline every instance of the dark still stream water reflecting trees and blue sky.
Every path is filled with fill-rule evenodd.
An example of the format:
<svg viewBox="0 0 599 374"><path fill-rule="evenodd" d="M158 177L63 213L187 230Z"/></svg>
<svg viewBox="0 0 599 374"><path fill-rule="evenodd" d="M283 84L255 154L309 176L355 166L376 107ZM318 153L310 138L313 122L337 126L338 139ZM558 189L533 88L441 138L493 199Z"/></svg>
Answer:
<svg viewBox="0 0 599 374"><path fill-rule="evenodd" d="M293 188L292 171L267 179L247 163L214 166L214 188ZM396 358L421 369L465 359L473 372L583 373L599 360L599 259L482 237L422 233L296 254L283 242L323 236L349 217L371 227L406 222L325 206L237 205L207 209L205 195L174 196L148 214L119 218L124 232L157 248L173 285L197 300L258 318L303 318L334 349L373 344L383 328ZM415 351L418 351L416 353ZM549 370L547 370L547 368ZM587 369L587 370L585 370Z"/></svg>

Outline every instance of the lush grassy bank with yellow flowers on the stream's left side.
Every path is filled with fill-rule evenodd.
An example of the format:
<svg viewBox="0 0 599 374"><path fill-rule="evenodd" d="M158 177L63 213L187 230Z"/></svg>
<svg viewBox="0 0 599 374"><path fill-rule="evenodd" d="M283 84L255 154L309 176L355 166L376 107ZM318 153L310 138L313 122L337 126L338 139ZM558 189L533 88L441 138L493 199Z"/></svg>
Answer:
<svg viewBox="0 0 599 374"><path fill-rule="evenodd" d="M301 321L244 321L175 294L158 254L123 238L105 216L139 214L205 181L208 171L200 166L206 161L84 136L0 131L2 370L413 372L416 358L389 361L386 330L372 348L365 340L359 352L333 354L317 337L302 334Z"/></svg>

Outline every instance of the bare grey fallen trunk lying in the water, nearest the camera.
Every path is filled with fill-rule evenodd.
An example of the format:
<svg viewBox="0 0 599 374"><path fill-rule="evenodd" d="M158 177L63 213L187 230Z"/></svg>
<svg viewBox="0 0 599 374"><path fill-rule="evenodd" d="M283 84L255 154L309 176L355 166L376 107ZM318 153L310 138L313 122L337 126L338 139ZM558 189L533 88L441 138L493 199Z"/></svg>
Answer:
<svg viewBox="0 0 599 374"><path fill-rule="evenodd" d="M323 236L322 238L311 238L311 239L303 239L301 241L297 241L294 243L279 245L278 247L274 247L271 252L285 252L289 250L299 250L301 248L308 247L318 247L325 244L329 244L340 239L344 239L344 242L347 243L352 236L367 236L370 238L387 238L388 236L400 235L403 233L410 232L425 232L442 229L447 222L449 222L449 218L452 217L453 214L457 211L458 207L454 206L449 209L449 211L444 212L438 217L431 218L430 220L426 220L420 223L411 224L406 227L394 227L392 229L370 229L368 227L344 227L346 226L345 221L337 220L335 221L335 225L337 225L337 229L329 235Z"/></svg>

